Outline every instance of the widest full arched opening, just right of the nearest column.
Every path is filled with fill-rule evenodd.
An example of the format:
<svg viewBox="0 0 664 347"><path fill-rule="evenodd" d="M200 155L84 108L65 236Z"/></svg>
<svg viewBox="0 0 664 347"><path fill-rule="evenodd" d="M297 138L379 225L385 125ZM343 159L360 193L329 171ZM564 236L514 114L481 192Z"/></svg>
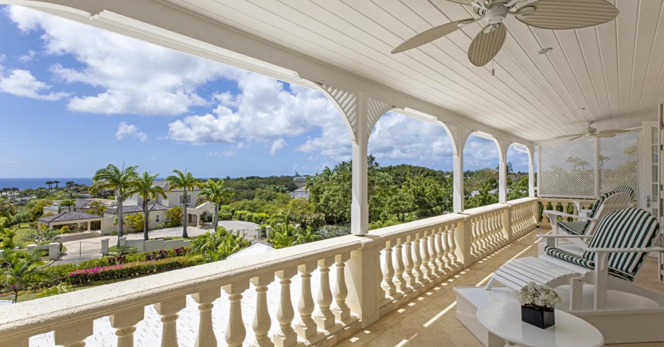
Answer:
<svg viewBox="0 0 664 347"><path fill-rule="evenodd" d="M453 150L442 124L380 117L369 137L369 229L450 213Z"/></svg>

